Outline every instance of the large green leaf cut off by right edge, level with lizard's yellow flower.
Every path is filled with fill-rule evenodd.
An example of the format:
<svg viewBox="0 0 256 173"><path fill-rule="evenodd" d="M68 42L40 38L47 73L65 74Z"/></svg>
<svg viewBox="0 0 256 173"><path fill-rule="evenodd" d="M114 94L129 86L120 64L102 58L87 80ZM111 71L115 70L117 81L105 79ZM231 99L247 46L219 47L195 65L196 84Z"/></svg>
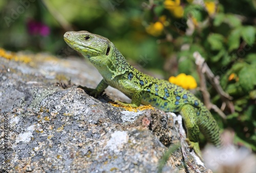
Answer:
<svg viewBox="0 0 256 173"><path fill-rule="evenodd" d="M243 67L239 73L239 83L244 91L249 92L254 88L254 81L256 80L255 70L251 66Z"/></svg>

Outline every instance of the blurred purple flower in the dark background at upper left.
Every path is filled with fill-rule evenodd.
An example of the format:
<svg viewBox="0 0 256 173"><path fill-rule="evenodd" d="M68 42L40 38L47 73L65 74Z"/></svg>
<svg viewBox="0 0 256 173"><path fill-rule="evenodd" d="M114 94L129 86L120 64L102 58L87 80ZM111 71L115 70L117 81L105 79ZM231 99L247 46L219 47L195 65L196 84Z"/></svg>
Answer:
<svg viewBox="0 0 256 173"><path fill-rule="evenodd" d="M50 28L40 21L29 20L27 22L27 28L31 35L41 35L45 37L50 34Z"/></svg>

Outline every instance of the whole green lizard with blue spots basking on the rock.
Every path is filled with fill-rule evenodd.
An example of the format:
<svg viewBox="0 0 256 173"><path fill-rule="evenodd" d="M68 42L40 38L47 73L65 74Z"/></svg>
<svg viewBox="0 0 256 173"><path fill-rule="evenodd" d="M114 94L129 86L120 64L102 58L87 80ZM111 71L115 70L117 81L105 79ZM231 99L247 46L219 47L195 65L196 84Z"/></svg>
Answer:
<svg viewBox="0 0 256 173"><path fill-rule="evenodd" d="M220 129L209 110L191 92L169 83L145 75L131 66L114 44L107 38L87 31L67 32L66 43L81 53L98 69L103 79L96 89L84 87L95 96L109 85L120 90L132 99L121 106L138 107L140 104L152 105L165 112L180 112L187 129L187 141L200 157L199 132L216 146L220 145Z"/></svg>

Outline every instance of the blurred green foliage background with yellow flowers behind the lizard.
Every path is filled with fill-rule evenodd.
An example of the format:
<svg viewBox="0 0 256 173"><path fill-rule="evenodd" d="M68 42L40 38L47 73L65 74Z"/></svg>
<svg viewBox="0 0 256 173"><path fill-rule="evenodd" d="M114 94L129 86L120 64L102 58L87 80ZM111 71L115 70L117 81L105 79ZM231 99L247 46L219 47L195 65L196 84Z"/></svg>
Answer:
<svg viewBox="0 0 256 173"><path fill-rule="evenodd" d="M108 37L138 67L161 71L165 78L184 72L199 84L193 57L198 51L233 97L235 112L225 109L226 121L212 113L236 132L236 143L256 151L255 0L2 0L0 15L0 47L10 51L76 55L63 34L87 30ZM50 34L31 34L31 20L44 23ZM212 103L221 107L221 96L207 86Z"/></svg>

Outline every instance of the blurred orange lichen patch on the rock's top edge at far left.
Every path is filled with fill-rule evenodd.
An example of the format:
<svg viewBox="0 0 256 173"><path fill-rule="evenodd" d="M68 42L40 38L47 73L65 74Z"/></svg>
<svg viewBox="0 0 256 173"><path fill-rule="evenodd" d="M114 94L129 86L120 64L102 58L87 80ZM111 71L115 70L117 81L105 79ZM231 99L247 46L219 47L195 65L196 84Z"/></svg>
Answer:
<svg viewBox="0 0 256 173"><path fill-rule="evenodd" d="M32 61L32 58L26 55L17 55L14 52L9 52L4 50L3 48L0 48L0 57L4 57L8 60L14 60L14 61L20 61L24 63L29 63Z"/></svg>

